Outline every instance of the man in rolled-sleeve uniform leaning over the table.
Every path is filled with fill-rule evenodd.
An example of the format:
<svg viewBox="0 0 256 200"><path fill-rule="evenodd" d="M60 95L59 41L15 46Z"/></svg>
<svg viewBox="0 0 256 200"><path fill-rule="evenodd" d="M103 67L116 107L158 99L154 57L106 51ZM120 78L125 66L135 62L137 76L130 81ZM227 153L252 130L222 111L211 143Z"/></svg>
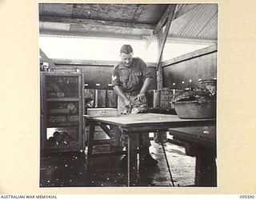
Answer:
<svg viewBox="0 0 256 200"><path fill-rule="evenodd" d="M123 45L120 50L121 62L114 66L112 72L112 86L118 95L118 111L130 113L132 107L138 110L145 108L146 92L152 81L152 75L146 63L141 58L133 58L133 49L130 45ZM123 138L118 128L114 128L117 138ZM157 165L158 161L151 157L150 139L148 132L139 134L140 163ZM122 159L126 162L127 158Z"/></svg>

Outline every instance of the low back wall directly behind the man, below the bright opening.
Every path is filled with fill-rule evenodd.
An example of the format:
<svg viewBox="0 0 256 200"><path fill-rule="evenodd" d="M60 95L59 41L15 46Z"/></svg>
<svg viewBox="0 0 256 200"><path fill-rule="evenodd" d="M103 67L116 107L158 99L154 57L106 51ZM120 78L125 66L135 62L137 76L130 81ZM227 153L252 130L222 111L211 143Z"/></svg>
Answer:
<svg viewBox="0 0 256 200"><path fill-rule="evenodd" d="M117 95L114 94L111 84L112 69L117 62L84 61L52 59L54 71L74 72L76 69L84 74L85 98L94 99L94 107L117 107ZM40 65L44 62L40 60ZM47 61L45 61L47 62ZM156 89L156 64L147 63L154 80L150 90Z"/></svg>

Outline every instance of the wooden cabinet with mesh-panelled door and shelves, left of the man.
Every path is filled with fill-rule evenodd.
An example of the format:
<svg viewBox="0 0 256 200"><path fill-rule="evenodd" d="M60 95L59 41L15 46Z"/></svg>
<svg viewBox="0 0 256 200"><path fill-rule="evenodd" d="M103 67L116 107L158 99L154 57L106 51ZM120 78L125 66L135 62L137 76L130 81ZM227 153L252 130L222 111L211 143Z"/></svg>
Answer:
<svg viewBox="0 0 256 200"><path fill-rule="evenodd" d="M40 72L42 152L84 150L84 83L80 72Z"/></svg>

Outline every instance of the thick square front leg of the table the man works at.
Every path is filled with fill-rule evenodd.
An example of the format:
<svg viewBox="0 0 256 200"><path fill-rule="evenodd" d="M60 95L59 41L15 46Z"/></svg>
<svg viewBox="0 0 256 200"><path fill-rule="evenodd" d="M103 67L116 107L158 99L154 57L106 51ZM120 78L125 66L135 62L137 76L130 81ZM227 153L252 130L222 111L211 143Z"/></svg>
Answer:
<svg viewBox="0 0 256 200"><path fill-rule="evenodd" d="M127 186L135 186L138 174L138 134L128 134Z"/></svg>

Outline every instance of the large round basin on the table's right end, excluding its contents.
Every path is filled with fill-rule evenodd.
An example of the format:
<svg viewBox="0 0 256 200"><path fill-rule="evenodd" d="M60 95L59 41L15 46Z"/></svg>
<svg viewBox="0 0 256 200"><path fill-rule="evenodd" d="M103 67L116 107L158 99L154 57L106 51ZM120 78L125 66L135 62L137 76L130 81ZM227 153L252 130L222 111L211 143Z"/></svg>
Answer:
<svg viewBox="0 0 256 200"><path fill-rule="evenodd" d="M174 109L179 118L216 118L216 102L175 102Z"/></svg>

